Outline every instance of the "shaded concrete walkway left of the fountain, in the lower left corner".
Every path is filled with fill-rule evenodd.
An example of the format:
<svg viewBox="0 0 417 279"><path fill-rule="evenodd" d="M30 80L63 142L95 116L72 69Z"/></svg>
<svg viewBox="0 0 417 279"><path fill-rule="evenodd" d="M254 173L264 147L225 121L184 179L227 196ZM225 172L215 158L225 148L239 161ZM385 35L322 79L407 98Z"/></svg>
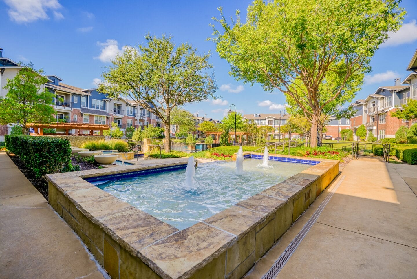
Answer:
<svg viewBox="0 0 417 279"><path fill-rule="evenodd" d="M0 153L0 279L109 278L6 153Z"/></svg>

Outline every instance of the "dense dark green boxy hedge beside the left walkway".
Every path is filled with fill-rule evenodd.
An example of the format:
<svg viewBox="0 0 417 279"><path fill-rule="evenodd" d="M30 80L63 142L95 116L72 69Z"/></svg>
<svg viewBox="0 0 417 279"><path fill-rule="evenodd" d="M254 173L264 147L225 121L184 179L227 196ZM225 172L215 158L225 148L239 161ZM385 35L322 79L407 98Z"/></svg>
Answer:
<svg viewBox="0 0 417 279"><path fill-rule="evenodd" d="M71 169L67 139L6 135L5 142L7 149L18 155L36 177Z"/></svg>

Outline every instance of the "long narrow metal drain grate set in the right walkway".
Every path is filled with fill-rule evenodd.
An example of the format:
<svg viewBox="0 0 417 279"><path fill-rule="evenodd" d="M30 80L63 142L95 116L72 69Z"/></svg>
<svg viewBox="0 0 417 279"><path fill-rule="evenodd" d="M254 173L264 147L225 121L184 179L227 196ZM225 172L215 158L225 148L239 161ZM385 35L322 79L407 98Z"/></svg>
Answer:
<svg viewBox="0 0 417 279"><path fill-rule="evenodd" d="M337 188L339 188L340 183L344 180L345 176L343 175L339 182L334 186L332 191L327 195L327 197L323 200L322 204L316 209L314 214L311 216L309 221L304 225L304 227L301 229L301 231L297 234L297 236L289 243L285 251L279 256L279 258L276 260L274 265L269 269L269 271L265 274L263 279L274 279L279 271L284 267L286 262L289 260L289 257L294 253L295 249L298 247L298 245L301 243L301 240L303 240L304 236L308 233L310 228L313 226L313 224L316 222L317 218L319 218L320 213L322 213L324 207L329 202L330 198L332 198L333 193L336 192Z"/></svg>

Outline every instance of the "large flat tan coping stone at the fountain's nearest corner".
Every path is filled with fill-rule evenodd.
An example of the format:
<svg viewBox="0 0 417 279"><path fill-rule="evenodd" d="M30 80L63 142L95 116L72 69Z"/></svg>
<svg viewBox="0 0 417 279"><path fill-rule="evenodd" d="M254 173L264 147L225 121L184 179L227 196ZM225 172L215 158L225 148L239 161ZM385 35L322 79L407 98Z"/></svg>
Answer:
<svg viewBox="0 0 417 279"><path fill-rule="evenodd" d="M236 241L230 233L196 223L139 250L138 256L163 278L188 278Z"/></svg>

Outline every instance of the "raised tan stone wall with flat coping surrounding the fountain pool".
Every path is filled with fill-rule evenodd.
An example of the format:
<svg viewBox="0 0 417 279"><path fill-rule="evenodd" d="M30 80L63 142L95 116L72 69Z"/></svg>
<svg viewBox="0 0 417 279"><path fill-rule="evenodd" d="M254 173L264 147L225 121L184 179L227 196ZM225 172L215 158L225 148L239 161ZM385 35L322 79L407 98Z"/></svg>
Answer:
<svg viewBox="0 0 417 279"><path fill-rule="evenodd" d="M339 173L338 161L317 160L182 231L83 178L185 164L187 159L48 175L49 203L112 278L241 278Z"/></svg>

